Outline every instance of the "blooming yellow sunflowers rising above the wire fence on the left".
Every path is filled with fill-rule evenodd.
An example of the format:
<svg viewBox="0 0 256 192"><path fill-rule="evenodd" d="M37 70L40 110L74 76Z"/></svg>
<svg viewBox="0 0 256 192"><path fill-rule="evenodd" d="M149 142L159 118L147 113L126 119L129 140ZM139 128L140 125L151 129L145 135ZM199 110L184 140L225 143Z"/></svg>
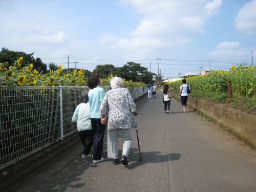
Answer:
<svg viewBox="0 0 256 192"><path fill-rule="evenodd" d="M84 76L85 69L75 70L69 74L61 74L62 65L58 70L50 70L47 74L39 73L36 69L33 70L33 63L22 66L23 57L20 57L12 65L9 63L0 63L0 86L86 86L87 77ZM24 65L23 65L24 66ZM102 79L102 86L110 86L109 80L113 76ZM145 87L143 82L126 81L124 86Z"/></svg>

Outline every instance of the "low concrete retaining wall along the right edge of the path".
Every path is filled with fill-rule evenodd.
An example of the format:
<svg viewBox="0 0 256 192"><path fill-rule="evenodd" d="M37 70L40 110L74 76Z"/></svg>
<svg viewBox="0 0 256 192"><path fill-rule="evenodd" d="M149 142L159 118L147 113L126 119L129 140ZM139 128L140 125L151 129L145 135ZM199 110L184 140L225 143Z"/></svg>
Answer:
<svg viewBox="0 0 256 192"><path fill-rule="evenodd" d="M178 98L179 93L173 92ZM256 116L226 108L223 104L207 101L197 97L189 97L187 105L204 113L211 120L231 131L247 144L256 146Z"/></svg>

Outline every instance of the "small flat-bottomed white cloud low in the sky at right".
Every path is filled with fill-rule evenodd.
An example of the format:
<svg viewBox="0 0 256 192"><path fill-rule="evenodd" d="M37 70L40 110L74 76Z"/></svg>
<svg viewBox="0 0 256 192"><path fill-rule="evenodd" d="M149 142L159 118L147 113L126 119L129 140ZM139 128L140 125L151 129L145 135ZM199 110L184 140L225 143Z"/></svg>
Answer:
<svg viewBox="0 0 256 192"><path fill-rule="evenodd" d="M239 41L223 41L220 42L216 50L210 53L211 56L220 57L220 58L237 58L243 59L248 56L248 49L240 47Z"/></svg>

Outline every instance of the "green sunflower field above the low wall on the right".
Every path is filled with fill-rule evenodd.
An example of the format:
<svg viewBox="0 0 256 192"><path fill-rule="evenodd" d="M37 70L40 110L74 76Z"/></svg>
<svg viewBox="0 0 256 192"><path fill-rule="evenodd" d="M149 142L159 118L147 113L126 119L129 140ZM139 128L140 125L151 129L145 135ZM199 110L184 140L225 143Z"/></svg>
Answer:
<svg viewBox="0 0 256 192"><path fill-rule="evenodd" d="M231 66L229 71L217 70L208 75L198 75L186 78L191 86L191 96L204 97L212 101L229 102L228 81L231 82L233 108L242 109L254 114L256 109L256 67L246 66L245 63ZM182 81L169 83L180 89Z"/></svg>

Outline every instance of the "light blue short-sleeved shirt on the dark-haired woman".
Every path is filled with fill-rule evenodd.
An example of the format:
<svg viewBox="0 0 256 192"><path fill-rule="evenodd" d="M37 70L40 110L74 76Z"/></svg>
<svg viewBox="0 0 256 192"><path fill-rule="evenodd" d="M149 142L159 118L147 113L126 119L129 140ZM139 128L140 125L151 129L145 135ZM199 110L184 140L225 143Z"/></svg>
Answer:
<svg viewBox="0 0 256 192"><path fill-rule="evenodd" d="M97 86L94 89L91 89L88 93L89 103L91 107L91 118L100 119L101 114L99 111L100 101L103 101L105 96L105 91L100 86Z"/></svg>

